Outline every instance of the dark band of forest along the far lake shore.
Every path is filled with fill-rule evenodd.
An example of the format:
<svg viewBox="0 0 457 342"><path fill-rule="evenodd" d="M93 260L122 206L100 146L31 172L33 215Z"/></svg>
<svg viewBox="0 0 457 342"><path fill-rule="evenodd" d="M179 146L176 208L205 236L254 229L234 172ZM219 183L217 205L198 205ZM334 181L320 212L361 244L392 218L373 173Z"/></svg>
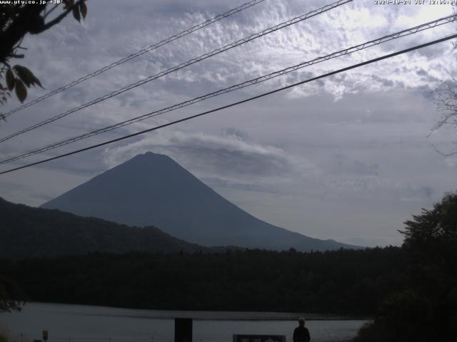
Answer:
<svg viewBox="0 0 457 342"><path fill-rule="evenodd" d="M1 260L32 301L126 308L374 314L401 289L397 247L300 253L106 254Z"/></svg>

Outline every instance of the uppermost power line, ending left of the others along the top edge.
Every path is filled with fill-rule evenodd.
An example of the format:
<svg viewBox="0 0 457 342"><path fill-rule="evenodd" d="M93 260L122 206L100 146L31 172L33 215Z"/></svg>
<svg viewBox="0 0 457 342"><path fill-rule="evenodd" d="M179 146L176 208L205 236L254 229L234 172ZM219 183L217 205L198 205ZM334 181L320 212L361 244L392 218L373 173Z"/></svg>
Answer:
<svg viewBox="0 0 457 342"><path fill-rule="evenodd" d="M147 53L149 51L155 50L156 48L160 48L161 46L164 46L165 44L171 43L172 41L176 41L176 39L182 38L184 36L187 36L190 33L193 33L195 31L199 31L201 28L204 28L206 26L209 26L211 24L216 23L216 21L220 21L221 19L225 19L233 14L236 14L238 12L241 12L245 9L248 9L249 7L255 6L256 4L260 4L265 0L252 0L249 2L246 2L246 4L242 4L241 6L238 6L234 9L231 9L229 11L224 12L223 14L218 14L217 16L214 16L214 18L208 19L200 24L197 24L195 26L192 26L191 28L187 28L186 30L176 33L174 36L170 36L169 38L166 38L162 41L159 41L159 43L154 43L153 45L150 45L146 48L142 48L139 51L136 51L135 53L131 53L129 56L126 56L124 58L119 59L119 61L113 62L107 66L104 66L103 68L100 68L92 73L89 73L88 75L81 77L77 79L76 81L73 81L71 83L66 84L65 86L62 86L61 88L57 88L55 90L52 90L49 93L46 93L39 98L36 98L35 100L31 100L28 103L25 103L24 105L19 106L18 108L14 108L13 110L10 110L8 113L4 114L4 118L8 118L9 115L12 115L14 113L19 112L20 110L23 110L24 108L30 107L31 105L34 105L36 103L41 102L42 100L45 100L46 98L51 97L52 95L56 95L58 93L61 93L64 90L67 90L73 86L76 86L77 84L87 81L90 78L93 78L95 76L100 75L101 73L104 73L105 71L109 71L111 68L114 68L116 66L119 66L122 63L125 63L126 61L131 61L132 59L139 57L143 55L144 53Z"/></svg>

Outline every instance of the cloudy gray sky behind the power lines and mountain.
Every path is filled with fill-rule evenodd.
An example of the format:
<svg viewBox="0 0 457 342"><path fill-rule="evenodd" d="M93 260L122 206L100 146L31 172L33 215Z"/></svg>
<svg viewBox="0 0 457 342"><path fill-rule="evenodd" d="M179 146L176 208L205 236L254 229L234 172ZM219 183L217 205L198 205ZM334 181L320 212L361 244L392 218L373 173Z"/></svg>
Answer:
<svg viewBox="0 0 457 342"><path fill-rule="evenodd" d="M20 61L47 91L247 0L96 0L79 24L65 19L27 36ZM414 2L414 1L411 1ZM0 125L9 135L113 90L188 61L331 1L265 0L111 69ZM0 144L0 156L40 147L226 88L318 56L453 13L446 5L378 5L355 0ZM249 98L322 73L456 33L451 23L318 63L274 80L0 165L41 160ZM456 190L452 129L433 90L454 74L446 41L307 83L196 120L0 176L0 196L37 206L146 151L174 158L207 185L267 222L310 237L366 246L401 244L397 229L421 207ZM29 89L29 100L46 90ZM12 98L3 113L16 108Z"/></svg>

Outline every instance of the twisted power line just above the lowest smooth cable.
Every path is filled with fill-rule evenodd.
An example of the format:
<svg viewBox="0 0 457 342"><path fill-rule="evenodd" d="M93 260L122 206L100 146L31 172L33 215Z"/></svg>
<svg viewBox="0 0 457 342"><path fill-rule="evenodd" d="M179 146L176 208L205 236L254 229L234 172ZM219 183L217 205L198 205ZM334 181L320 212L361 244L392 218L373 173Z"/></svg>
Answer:
<svg viewBox="0 0 457 342"><path fill-rule="evenodd" d="M404 36L409 36L409 35L411 35L413 33L417 33L419 31L424 31L424 30L429 29L429 28L433 28L433 27L436 27L436 26L441 26L443 24L448 24L450 22L455 21L456 19L457 19L457 14L453 14L451 16L446 16L446 17L443 17L441 19L437 19L435 21L430 21L430 22L428 22L426 24L421 24L421 25L418 25L418 26L414 26L412 28L407 28L405 30L398 31L396 33L391 33L389 35L382 36L381 38L376 38L376 39L373 39L371 41L367 41L365 43L361 43L361 44L358 44L356 46L352 46L351 48L346 48L346 49L341 50L341 51L333 52L333 53L328 54L326 56L316 57L311 61L298 63L295 66L289 66L288 68L283 68L283 69L281 69L279 71L274 71L273 73L268 73L268 75L263 75L263 76L260 76L258 78L253 78L252 80L245 81L243 83L238 83L235 86L230 86L228 88L216 90L216 91L214 91L212 93L207 93L206 95L201 95L201 96L199 96L197 98L193 98L191 100L186 100L184 102L177 103L175 105L171 105L169 107L162 108L160 110L154 110L151 113L147 113L147 114L138 116L136 118L131 118L129 120L124 120L124 121L122 121L120 123L116 123L114 125L109 125L109 126L106 126L104 128L99 128L98 130L94 130L94 131L92 131L90 133L84 133L82 135L77 135L76 137L73 137L73 138L61 140L60 142L55 142L55 143L53 143L51 145L46 145L44 147L39 147L39 148L36 148L34 150L29 150L29 151L21 153L19 155L15 155L15 156L9 157L7 159L0 160L0 164L6 164L8 162L14 162L15 160L20 160L20 159L23 159L25 157L29 157L31 155L36 155L36 154L38 154L40 152L46 152L46 151L49 151L49 150L54 150L57 147L61 147L61 146L64 146L64 145L69 145L69 144L71 144L73 142L76 142L76 141L79 141L79 140L83 140L83 139L86 139L86 138L90 138L90 137L92 137L94 135L99 135L101 133L106 133L106 132L109 132L111 130L115 130L116 128L121 128L121 127L124 127L126 125L131 125L132 123L137 123L137 122L142 121L142 120L146 120L146 119L149 119L149 118L154 118L154 117L156 117L158 115L161 115L161 114L164 114L164 113L168 113L168 112L171 112L173 110L177 110L179 108L184 108L184 107L186 107L188 105L192 105L194 103L199 103L199 102L201 102L203 100L206 100L208 98L213 98L215 96L219 96L219 95L222 95L222 94L225 94L225 93L230 93L231 91L234 91L234 90L238 90L238 89L241 89L241 88L246 88L248 86L256 85L258 83L262 83L264 81L271 80L272 78L276 78L278 76L283 76L286 73L291 73L292 71L297 71L298 69L304 68L306 66L311 66L311 65L316 64L316 63L321 63L323 61L328 61L328 60L330 60L332 58L345 56L345 55L348 55L350 53L353 53L353 52L356 52L356 51L361 51L361 50L363 50L365 48L369 48L371 46L376 46L376 45L379 45L381 43L385 43L386 41L392 41L393 39L401 38L401 37L404 37Z"/></svg>

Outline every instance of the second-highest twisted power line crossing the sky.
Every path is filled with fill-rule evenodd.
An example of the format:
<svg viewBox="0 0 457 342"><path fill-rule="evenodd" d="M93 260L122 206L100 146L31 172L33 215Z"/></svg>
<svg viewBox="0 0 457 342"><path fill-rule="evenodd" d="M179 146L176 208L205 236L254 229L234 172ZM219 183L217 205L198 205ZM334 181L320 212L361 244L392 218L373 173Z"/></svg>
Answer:
<svg viewBox="0 0 457 342"><path fill-rule="evenodd" d="M307 14L303 14L301 16L296 16L295 18L290 19L288 21L285 21L285 22L283 22L281 24L277 24L275 26L271 26L270 28L266 28L265 30L263 30L261 32L253 33L250 36L247 36L245 38L239 39L238 41L235 41L233 43L229 43L226 46L223 46L221 48L216 48L215 50L213 50L213 51L211 51L209 53L204 53L203 55L201 55L199 57L196 57L196 58L193 58L190 61L187 61L185 63L181 63L178 66L171 67L171 68L167 69L166 71L161 71L160 73L156 73L156 75L149 76L148 78L144 78L143 80L137 81L135 83L131 83L131 84L129 84L129 86L125 86L124 88L120 88L120 89L115 90L115 91L113 91L113 92L111 92L109 94L101 96L100 98L96 98L95 100L91 100L90 102L85 103L84 105L79 105L79 107L76 107L76 108L73 108L71 110L67 110L64 113L60 113L58 115L55 115L52 118L49 118L49 119L44 120L44 121L41 121L41 123L36 123L35 125L31 125L29 128L24 128L23 130L19 130L16 133L12 133L11 135L8 135L8 136L6 136L4 138L1 138L0 142L4 142L6 140L9 140L11 138L16 137L17 135L24 134L26 132L29 132L30 130L34 130L34 129L39 128L41 126L47 125L49 123L52 123L52 122L54 122L56 120L59 120L61 118L66 117L67 115L70 115L71 113L74 113L74 112L76 112L78 110L87 108L87 107L89 107L91 105L95 105L96 103L100 103L100 102L102 102L104 100L107 100L109 98L113 98L114 96L117 96L117 95L119 95L121 93L124 93L127 90L131 90L133 88L142 86L145 83L154 81L157 78L160 78L162 76L168 75L169 73L172 73L174 71L178 71L178 70L180 70L182 68L186 68L186 66L191 66L194 63L198 63L200 61L204 61L206 58L210 58L212 56L216 56L217 54L222 53L222 52L227 51L227 50L230 50L231 48L235 48L236 46L240 46L240 45L242 45L244 43L248 43L248 41L253 41L254 39L260 38L262 36L266 36L269 33L273 33L275 31L281 30L281 28L285 28L285 27L291 26L293 24L297 24L300 21L304 21L304 20L309 19L309 18L311 18L313 16L317 16L318 14L322 14L323 12L330 11L331 9L334 9L334 8L336 8L338 6L341 6L343 4L347 4L348 2L352 2L352 1L353 0L338 0L338 1L334 2L333 4L329 4L329 5L323 6L320 9L316 9L314 11L308 12Z"/></svg>

